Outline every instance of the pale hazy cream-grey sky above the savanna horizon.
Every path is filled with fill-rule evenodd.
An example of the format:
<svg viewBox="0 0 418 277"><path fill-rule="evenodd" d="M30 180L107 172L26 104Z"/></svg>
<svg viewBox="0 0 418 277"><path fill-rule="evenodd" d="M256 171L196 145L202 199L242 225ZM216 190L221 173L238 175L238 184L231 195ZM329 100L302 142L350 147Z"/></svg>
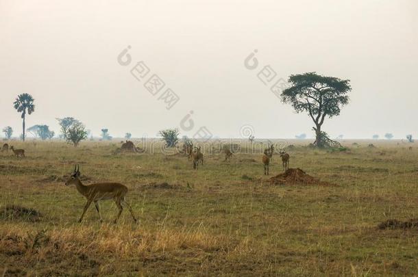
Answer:
<svg viewBox="0 0 418 277"><path fill-rule="evenodd" d="M316 71L350 79L351 102L326 120L332 137L418 137L418 1L4 1L0 0L0 127L21 133L17 94L36 99L27 127L73 116L94 135L156 135L195 123L219 137L312 136L312 121L295 114L258 79ZM117 57L130 45L132 62ZM257 49L256 70L244 66ZM149 68L138 81L130 70ZM165 86L153 96L144 83ZM274 80L276 80L274 79ZM158 99L171 88L180 101ZM187 125L190 126L190 125Z"/></svg>

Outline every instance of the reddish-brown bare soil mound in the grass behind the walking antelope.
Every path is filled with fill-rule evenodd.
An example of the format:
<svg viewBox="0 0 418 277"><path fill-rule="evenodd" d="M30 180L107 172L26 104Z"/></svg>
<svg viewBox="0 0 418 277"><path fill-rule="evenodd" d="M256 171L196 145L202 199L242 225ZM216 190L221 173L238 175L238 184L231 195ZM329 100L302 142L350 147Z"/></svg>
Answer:
<svg viewBox="0 0 418 277"><path fill-rule="evenodd" d="M300 168L289 168L282 174L270 178L272 185L332 185L316 179Z"/></svg>

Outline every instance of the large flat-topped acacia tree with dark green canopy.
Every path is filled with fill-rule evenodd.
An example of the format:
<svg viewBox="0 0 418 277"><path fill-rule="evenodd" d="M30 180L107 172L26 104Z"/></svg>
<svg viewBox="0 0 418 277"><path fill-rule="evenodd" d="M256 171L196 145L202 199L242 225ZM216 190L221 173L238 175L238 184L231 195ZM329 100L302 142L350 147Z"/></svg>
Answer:
<svg viewBox="0 0 418 277"><path fill-rule="evenodd" d="M291 75L288 83L291 87L282 92L282 102L291 104L297 113L308 112L315 124L314 145L319 148L340 145L330 140L321 127L325 118L339 116L341 107L348 104L347 93L352 89L349 80L308 72Z"/></svg>

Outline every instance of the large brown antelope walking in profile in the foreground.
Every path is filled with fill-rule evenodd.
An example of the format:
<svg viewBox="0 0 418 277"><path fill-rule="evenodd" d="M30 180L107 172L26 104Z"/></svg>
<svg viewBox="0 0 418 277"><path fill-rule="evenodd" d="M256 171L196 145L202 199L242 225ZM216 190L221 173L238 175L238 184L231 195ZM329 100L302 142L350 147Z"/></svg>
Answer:
<svg viewBox="0 0 418 277"><path fill-rule="evenodd" d="M103 222L99 210L100 200L114 200L116 203L116 206L119 209L119 213L114 220L115 224L119 220L119 217L123 211L122 205L127 206L127 209L129 209L131 212L132 218L134 218L134 222L136 222L132 207L125 201L125 196L127 194L127 187L125 187L125 185L122 185L121 183L94 183L91 185L83 185L82 181L79 179L80 175L81 173L79 172L79 167L77 168L77 166L75 166L73 173L70 175L70 178L65 182L65 185L67 186L75 185L77 191L87 199L82 217L80 217L78 222L82 222L84 213L86 213L88 207L90 207L91 202L95 202L97 213L99 213L100 222Z"/></svg>

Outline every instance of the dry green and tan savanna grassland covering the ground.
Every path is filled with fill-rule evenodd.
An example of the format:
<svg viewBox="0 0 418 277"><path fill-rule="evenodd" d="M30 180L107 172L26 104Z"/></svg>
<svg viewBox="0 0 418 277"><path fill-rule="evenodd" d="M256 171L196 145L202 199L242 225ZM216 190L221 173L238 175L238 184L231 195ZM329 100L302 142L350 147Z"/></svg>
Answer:
<svg viewBox="0 0 418 277"><path fill-rule="evenodd" d="M373 142L375 143L375 142ZM183 155L114 155L108 142L12 143L25 159L0 154L0 274L5 276L416 276L418 229L380 230L388 219L418 217L418 145L345 142L350 151L296 146L291 168L334 186L275 186L260 154L205 155L193 170ZM408 146L413 150L408 150ZM104 223L75 187L64 185L75 163L85 183L129 187L118 224L113 202ZM273 156L270 176L282 172ZM7 205L42 216L10 218Z"/></svg>

